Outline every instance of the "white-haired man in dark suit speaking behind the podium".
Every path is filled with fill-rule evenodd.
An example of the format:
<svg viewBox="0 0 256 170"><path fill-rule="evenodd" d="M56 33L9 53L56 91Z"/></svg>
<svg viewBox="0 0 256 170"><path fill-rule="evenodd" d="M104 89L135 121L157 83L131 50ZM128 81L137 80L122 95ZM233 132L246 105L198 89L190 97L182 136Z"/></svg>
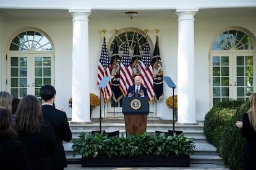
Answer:
<svg viewBox="0 0 256 170"><path fill-rule="evenodd" d="M134 85L130 86L126 97L148 97L148 91L146 87L143 87L141 76L135 76Z"/></svg>

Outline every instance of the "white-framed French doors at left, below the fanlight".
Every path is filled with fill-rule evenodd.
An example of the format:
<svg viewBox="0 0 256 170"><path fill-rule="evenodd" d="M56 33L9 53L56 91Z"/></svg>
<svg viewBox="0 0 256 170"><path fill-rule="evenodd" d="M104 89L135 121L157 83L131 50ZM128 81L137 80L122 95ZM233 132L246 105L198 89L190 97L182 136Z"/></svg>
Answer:
<svg viewBox="0 0 256 170"><path fill-rule="evenodd" d="M19 99L27 94L40 98L40 87L54 84L53 62L53 54L8 54L7 89Z"/></svg>

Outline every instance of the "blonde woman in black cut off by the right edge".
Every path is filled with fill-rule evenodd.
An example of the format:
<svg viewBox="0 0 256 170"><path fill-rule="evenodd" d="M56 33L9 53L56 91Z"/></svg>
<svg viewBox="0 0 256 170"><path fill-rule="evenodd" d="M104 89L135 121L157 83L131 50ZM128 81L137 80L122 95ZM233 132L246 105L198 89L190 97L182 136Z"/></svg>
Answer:
<svg viewBox="0 0 256 170"><path fill-rule="evenodd" d="M256 93L250 95L250 108L244 113L242 121L236 126L242 128L242 136L246 138L244 146L244 169L255 169L256 160Z"/></svg>

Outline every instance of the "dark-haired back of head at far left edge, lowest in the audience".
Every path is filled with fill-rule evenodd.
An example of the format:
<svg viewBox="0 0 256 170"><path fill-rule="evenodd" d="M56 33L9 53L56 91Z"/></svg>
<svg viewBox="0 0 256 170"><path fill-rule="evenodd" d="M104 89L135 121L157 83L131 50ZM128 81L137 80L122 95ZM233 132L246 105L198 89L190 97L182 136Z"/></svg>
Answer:
<svg viewBox="0 0 256 170"><path fill-rule="evenodd" d="M0 107L0 139L10 139L15 134L11 112L5 107Z"/></svg>

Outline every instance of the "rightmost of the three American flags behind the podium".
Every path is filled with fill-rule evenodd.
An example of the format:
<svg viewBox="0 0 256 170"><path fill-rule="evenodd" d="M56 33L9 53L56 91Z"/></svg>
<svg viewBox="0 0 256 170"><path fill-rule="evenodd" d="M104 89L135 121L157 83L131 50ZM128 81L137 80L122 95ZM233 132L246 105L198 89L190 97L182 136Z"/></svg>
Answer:
<svg viewBox="0 0 256 170"><path fill-rule="evenodd" d="M150 49L146 38L145 46L142 54L142 67L141 72L143 86L148 90L148 102L152 102L154 99L154 87L153 87L153 70L151 65Z"/></svg>

